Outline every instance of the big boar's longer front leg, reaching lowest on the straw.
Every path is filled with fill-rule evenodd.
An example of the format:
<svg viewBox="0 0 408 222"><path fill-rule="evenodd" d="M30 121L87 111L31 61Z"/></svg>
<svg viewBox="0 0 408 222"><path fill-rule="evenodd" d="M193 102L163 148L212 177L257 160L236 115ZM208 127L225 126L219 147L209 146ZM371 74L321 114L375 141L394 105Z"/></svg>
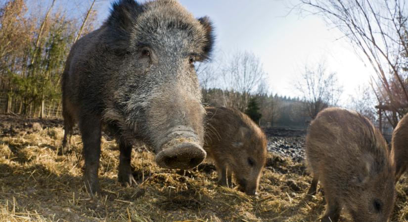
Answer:
<svg viewBox="0 0 408 222"><path fill-rule="evenodd" d="M87 191L93 196L99 191L98 169L100 157L101 122L92 115L81 116L80 130L85 158L84 183Z"/></svg>

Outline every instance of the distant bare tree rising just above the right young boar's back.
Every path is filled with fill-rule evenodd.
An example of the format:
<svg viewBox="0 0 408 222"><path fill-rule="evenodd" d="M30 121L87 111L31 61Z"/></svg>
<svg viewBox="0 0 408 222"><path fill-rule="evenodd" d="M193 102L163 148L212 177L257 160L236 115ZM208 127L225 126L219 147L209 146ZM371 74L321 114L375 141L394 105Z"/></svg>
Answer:
<svg viewBox="0 0 408 222"><path fill-rule="evenodd" d="M328 73L322 61L314 69L305 66L305 70L295 81L295 88L303 96L306 110L312 119L324 108L336 106L343 92L337 74Z"/></svg>

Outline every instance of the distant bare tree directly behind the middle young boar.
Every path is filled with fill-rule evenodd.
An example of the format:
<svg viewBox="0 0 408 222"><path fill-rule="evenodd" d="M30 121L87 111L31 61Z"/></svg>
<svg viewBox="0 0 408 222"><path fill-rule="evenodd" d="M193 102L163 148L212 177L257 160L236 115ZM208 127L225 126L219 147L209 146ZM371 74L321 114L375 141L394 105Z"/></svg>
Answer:
<svg viewBox="0 0 408 222"><path fill-rule="evenodd" d="M235 52L223 69L224 82L229 93L229 106L240 111L247 107L250 95L264 82L266 73L260 59L251 52Z"/></svg>

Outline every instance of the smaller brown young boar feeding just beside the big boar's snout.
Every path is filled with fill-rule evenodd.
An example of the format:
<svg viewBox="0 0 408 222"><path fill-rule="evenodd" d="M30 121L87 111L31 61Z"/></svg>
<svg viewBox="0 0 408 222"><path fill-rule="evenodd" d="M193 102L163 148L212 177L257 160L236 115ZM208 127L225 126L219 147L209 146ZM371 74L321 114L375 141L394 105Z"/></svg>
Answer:
<svg viewBox="0 0 408 222"><path fill-rule="evenodd" d="M216 165L220 185L231 185L232 173L241 191L257 194L267 155L262 130L244 113L206 107L204 149Z"/></svg>

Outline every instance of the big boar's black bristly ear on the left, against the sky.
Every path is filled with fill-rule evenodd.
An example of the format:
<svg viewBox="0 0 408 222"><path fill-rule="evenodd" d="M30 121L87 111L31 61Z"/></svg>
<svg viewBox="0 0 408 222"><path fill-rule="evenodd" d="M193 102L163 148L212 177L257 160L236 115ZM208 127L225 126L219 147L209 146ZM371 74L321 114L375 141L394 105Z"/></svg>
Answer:
<svg viewBox="0 0 408 222"><path fill-rule="evenodd" d="M119 0L112 4L105 25L110 29L110 32L107 32L107 44L115 52L119 54L127 52L132 27L141 10L142 7L135 0Z"/></svg>

